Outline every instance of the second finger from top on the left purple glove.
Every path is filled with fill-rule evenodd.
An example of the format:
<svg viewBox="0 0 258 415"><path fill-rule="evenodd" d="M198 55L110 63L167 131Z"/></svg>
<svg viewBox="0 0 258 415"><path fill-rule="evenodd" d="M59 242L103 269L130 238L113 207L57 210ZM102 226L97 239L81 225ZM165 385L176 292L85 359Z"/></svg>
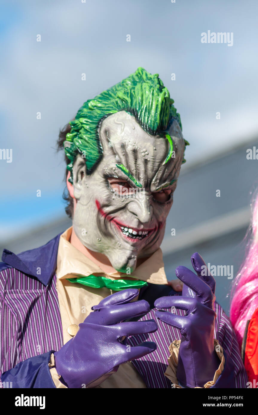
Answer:
<svg viewBox="0 0 258 415"><path fill-rule="evenodd" d="M86 323L111 325L128 320L132 317L146 314L150 310L150 304L145 300L120 305L106 305L91 312L84 320Z"/></svg>

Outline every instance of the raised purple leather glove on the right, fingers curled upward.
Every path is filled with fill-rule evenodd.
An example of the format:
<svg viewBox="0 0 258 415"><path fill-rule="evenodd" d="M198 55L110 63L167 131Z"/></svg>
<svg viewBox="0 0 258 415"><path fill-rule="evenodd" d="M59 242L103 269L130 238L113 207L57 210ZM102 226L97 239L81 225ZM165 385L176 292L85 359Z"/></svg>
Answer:
<svg viewBox="0 0 258 415"><path fill-rule="evenodd" d="M156 311L155 315L179 329L182 334L177 366L180 385L203 388L206 382L213 380L220 364L213 341L216 318L215 280L213 276L201 276L201 266L206 264L197 252L192 255L191 260L197 276L184 266L178 266L175 270L179 280L184 283L182 297L162 297L154 305L157 308L174 306L187 311L185 316L162 311Z"/></svg>

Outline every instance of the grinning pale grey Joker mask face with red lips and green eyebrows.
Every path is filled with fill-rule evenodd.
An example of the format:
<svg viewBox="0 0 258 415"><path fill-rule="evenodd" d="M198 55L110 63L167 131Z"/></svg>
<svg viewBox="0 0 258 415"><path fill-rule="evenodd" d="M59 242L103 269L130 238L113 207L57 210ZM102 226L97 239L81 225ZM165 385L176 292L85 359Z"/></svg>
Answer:
<svg viewBox="0 0 258 415"><path fill-rule="evenodd" d="M137 258L154 253L164 237L185 141L176 117L169 128L152 135L139 117L123 109L103 118L97 133L102 154L90 173L87 152L81 147L76 154L72 140L64 142L66 154L76 154L70 157L74 231L85 247L106 255L113 268L133 272Z"/></svg>

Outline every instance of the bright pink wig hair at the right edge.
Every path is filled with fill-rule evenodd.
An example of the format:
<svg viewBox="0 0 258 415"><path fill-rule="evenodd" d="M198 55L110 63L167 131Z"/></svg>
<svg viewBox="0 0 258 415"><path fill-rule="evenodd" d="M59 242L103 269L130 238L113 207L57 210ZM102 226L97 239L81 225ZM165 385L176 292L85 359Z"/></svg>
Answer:
<svg viewBox="0 0 258 415"><path fill-rule="evenodd" d="M230 318L241 347L247 320L258 308L258 197L251 203L253 218L249 228L246 258L236 277L230 308Z"/></svg>

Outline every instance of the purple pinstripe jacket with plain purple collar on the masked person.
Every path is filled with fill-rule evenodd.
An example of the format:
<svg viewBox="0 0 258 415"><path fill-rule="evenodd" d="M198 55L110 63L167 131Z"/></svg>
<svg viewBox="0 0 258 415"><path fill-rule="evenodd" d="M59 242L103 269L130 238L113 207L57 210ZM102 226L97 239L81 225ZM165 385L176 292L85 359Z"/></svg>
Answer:
<svg viewBox="0 0 258 415"><path fill-rule="evenodd" d="M48 362L50 354L63 345L55 274L59 237L60 234L46 245L19 255L7 249L3 251L3 263L0 264L0 381L1 378L3 383L12 381L14 387L55 388ZM169 295L168 286L151 286L140 294L140 298L149 301L152 310L140 320L154 319L159 330L131 336L127 341L132 346L146 340L157 344L155 352L133 364L148 388L171 388L171 382L164 376L168 349L181 334L155 317L153 302ZM175 292L172 290L170 295ZM226 364L213 387L246 388L248 380L235 333L220 305L215 303L215 307L214 337L224 349ZM177 313L184 315L182 310Z"/></svg>

